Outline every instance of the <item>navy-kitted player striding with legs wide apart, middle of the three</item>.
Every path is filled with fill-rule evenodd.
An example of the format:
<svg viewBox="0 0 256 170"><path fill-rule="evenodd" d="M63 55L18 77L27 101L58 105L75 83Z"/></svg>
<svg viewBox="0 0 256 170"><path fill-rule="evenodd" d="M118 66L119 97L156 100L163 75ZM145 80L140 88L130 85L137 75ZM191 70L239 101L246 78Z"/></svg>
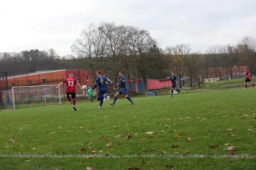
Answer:
<svg viewBox="0 0 256 170"><path fill-rule="evenodd" d="M119 72L120 77L120 83L117 83L119 85L119 88L117 88L119 91L115 94L115 98L113 103L110 103L110 105L114 106L117 100L117 96L119 94L123 94L126 99L128 99L131 102L131 105L134 105L135 103L130 99L130 97L127 96L127 88L125 85L125 77L123 76L122 72Z"/></svg>

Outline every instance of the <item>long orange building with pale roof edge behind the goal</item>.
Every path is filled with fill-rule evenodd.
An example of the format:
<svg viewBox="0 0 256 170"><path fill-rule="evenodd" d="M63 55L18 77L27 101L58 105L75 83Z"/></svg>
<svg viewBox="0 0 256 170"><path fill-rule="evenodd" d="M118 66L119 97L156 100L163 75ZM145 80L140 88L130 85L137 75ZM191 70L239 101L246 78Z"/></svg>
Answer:
<svg viewBox="0 0 256 170"><path fill-rule="evenodd" d="M73 73L81 85L94 85L93 74L85 70L50 70L8 76L8 88L14 86L57 85Z"/></svg>

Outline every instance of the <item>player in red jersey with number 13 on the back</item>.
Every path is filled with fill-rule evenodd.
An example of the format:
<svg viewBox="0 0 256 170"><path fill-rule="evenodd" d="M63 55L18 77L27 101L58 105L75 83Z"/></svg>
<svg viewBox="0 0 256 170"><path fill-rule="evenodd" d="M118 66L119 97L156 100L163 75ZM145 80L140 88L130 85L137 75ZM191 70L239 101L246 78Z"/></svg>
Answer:
<svg viewBox="0 0 256 170"><path fill-rule="evenodd" d="M64 82L61 82L60 85L58 85L58 87L56 87L56 89L58 89L61 85L63 85L64 83L67 84L67 89L66 89L66 96L67 99L69 100L68 104L72 104L71 103L71 99L70 99L70 95L71 98L73 99L73 109L76 111L76 84L81 88L81 85L76 81L76 79L73 78L73 74L69 75L69 78L65 79ZM81 90L83 90L81 88Z"/></svg>

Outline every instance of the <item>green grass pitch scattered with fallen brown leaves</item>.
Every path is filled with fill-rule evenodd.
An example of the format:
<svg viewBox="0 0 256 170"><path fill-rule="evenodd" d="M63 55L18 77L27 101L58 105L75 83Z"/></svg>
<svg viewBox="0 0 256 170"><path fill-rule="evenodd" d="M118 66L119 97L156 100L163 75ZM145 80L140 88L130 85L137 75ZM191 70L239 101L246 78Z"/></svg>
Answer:
<svg viewBox="0 0 256 170"><path fill-rule="evenodd" d="M249 88L1 111L0 170L255 170L255 98Z"/></svg>

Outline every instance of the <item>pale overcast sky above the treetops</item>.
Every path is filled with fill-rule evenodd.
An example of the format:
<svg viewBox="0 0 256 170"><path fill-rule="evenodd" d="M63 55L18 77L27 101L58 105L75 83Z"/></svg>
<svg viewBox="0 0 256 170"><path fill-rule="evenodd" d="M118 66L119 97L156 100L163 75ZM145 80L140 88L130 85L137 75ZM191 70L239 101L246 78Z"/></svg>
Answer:
<svg viewBox="0 0 256 170"><path fill-rule="evenodd" d="M90 23L147 29L161 48L236 44L256 36L256 0L1 0L0 52L54 48L60 56Z"/></svg>

